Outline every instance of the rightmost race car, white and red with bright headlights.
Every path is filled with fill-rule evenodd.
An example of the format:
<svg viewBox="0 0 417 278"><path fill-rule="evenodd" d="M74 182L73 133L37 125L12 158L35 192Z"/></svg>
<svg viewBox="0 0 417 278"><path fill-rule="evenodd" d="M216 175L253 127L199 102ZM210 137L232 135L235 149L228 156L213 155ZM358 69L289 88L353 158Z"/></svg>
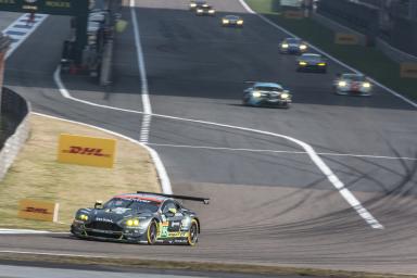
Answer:
<svg viewBox="0 0 417 278"><path fill-rule="evenodd" d="M333 83L337 94L371 96L372 86L362 74L338 74Z"/></svg>

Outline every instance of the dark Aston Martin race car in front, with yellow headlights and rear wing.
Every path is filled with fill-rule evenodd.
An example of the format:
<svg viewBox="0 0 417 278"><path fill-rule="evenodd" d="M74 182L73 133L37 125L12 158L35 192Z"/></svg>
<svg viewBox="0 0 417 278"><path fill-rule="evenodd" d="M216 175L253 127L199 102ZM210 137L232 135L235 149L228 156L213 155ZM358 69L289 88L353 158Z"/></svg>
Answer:
<svg viewBox="0 0 417 278"><path fill-rule="evenodd" d="M208 203L207 198L141 192L119 194L75 214L77 238L131 243L195 245L201 231L197 214L177 200Z"/></svg>

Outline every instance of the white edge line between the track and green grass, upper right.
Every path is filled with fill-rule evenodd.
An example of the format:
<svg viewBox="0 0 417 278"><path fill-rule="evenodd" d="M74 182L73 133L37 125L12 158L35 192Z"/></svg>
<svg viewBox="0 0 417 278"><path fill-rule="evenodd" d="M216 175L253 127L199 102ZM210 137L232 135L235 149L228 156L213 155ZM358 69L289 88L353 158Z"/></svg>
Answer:
<svg viewBox="0 0 417 278"><path fill-rule="evenodd" d="M298 37L295 34L293 34L293 33L287 30L286 28L279 26L278 24L276 24L276 23L274 23L273 21L268 20L268 18L265 17L264 15L258 14L258 13L256 13L255 11L253 11L253 10L247 4L247 2L244 2L244 0L239 0L239 2L241 3L241 5L242 5L249 13L257 15L257 16L258 16L261 20L263 20L264 22L266 22L266 23L268 23L269 25L276 27L277 29L279 29L279 30L281 30L281 31L283 31L283 33L290 35L291 37L295 37L295 38ZM323 51L321 49L319 49L319 48L317 48L317 47L311 45L309 42L308 42L308 46L309 46L312 49L314 49L315 51L319 52L320 54L330 58L331 60L333 60L336 63L340 64L341 66L343 66L343 67L345 67L345 68L352 71L353 73L363 74L363 73L361 73L359 71L357 71L357 70L351 67L350 65L343 63L342 61L338 60L337 58L330 55L329 53ZM399 98L399 99L402 99L403 101L407 102L409 105L412 105L412 106L414 106L415 109L417 109L417 103L416 103L416 102L414 102L414 101L412 101L410 99L404 97L403 94L401 94L401 93L394 91L393 89L388 88L387 86L384 86L383 84L377 81L377 80L374 79L374 78L369 78L369 79L370 79L371 83L374 83L374 84L377 85L378 87L382 88L383 90L390 92L391 94L395 96L395 97Z"/></svg>

